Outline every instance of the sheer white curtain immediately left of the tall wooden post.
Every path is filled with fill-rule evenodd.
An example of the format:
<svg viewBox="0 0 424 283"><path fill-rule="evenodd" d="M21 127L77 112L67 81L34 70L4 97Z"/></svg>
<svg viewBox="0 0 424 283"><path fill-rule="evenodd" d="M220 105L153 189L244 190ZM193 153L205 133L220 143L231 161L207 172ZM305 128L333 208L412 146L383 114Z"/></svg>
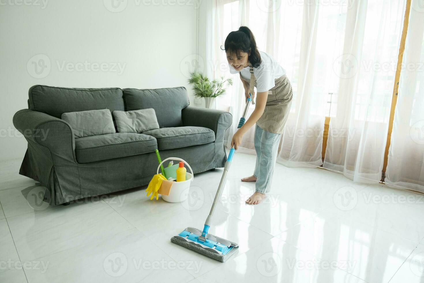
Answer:
<svg viewBox="0 0 424 283"><path fill-rule="evenodd" d="M381 179L405 4L360 0L347 12L324 168L355 182Z"/></svg>

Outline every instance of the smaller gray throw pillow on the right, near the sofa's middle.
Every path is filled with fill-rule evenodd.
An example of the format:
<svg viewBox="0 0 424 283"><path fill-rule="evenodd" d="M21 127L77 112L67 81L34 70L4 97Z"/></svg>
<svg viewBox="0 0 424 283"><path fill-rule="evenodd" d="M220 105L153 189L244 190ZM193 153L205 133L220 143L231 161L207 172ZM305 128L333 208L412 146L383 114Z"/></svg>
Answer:
<svg viewBox="0 0 424 283"><path fill-rule="evenodd" d="M139 109L113 112L116 127L120 133L142 133L159 129L155 109Z"/></svg>

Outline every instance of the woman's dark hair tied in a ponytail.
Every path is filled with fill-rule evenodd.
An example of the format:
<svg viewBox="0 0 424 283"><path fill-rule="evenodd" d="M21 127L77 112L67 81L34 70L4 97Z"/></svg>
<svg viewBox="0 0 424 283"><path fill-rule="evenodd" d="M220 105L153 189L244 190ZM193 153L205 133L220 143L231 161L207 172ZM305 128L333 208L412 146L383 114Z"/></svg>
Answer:
<svg viewBox="0 0 424 283"><path fill-rule="evenodd" d="M228 34L225 39L223 50L226 52L229 51L230 54L234 54L236 56L240 54L240 51L246 53L251 51L248 56L248 60L255 68L259 67L262 62L252 31L250 28L243 25L238 29L238 31L232 31Z"/></svg>

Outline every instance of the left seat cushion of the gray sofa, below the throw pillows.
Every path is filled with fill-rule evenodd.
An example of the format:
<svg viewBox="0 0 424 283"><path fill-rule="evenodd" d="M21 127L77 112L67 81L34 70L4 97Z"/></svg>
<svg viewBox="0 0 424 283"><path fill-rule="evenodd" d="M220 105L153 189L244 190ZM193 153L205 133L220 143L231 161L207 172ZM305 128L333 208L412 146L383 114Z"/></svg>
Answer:
<svg viewBox="0 0 424 283"><path fill-rule="evenodd" d="M78 163L88 163L152 152L156 139L145 134L114 133L75 139Z"/></svg>

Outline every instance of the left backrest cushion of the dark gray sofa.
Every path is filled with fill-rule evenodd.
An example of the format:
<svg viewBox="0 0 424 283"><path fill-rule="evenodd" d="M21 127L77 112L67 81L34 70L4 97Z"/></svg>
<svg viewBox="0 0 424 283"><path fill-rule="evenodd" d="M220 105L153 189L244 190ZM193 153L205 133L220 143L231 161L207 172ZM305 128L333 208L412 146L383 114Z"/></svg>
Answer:
<svg viewBox="0 0 424 283"><path fill-rule="evenodd" d="M67 88L35 85L29 89L31 110L47 113L56 118L66 112L109 109L124 110L120 88Z"/></svg>

